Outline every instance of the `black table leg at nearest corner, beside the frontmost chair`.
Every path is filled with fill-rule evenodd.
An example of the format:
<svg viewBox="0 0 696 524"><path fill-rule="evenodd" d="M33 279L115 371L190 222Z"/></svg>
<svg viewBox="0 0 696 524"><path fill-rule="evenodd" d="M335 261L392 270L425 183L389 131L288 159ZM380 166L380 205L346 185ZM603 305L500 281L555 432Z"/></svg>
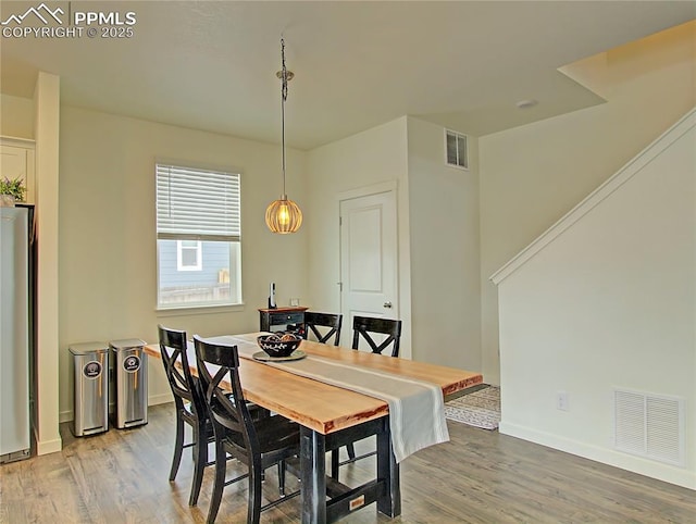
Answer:
<svg viewBox="0 0 696 524"><path fill-rule="evenodd" d="M326 442L309 427L300 428L300 498L302 523L326 522Z"/></svg>

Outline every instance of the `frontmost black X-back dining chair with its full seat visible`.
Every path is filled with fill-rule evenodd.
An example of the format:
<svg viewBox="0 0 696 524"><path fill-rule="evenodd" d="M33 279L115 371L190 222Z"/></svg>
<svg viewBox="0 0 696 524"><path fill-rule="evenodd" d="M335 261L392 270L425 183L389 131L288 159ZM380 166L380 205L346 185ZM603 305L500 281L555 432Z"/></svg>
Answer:
<svg viewBox="0 0 696 524"><path fill-rule="evenodd" d="M299 495L299 490L285 495L285 461L299 456L299 426L281 415L252 419L241 387L236 346L207 342L198 336L194 336L194 345L200 387L215 434L215 482L207 522L215 522L224 487L248 478L247 523L257 524L262 511ZM227 390L222 387L225 378ZM247 473L225 481L225 453L246 464ZM275 464L281 498L261 506L263 471Z"/></svg>

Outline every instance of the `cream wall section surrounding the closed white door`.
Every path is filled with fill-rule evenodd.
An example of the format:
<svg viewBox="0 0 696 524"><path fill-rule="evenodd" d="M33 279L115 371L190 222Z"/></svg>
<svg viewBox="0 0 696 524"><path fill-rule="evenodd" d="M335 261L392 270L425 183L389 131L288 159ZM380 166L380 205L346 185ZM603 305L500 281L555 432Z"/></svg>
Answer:
<svg viewBox="0 0 696 524"><path fill-rule="evenodd" d="M309 296L314 310L340 311L338 194L383 182L397 182L399 316L403 321L401 354L411 354L407 118L381 126L308 153L306 213L309 235ZM304 227L304 226L302 226ZM345 340L344 340L345 342Z"/></svg>

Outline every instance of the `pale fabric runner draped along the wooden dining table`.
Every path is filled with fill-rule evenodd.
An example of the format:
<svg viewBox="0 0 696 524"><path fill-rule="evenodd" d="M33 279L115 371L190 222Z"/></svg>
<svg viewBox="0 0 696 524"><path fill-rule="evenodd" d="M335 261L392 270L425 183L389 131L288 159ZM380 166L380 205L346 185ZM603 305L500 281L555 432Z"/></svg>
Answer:
<svg viewBox="0 0 696 524"><path fill-rule="evenodd" d="M246 337L222 336L207 340L237 346L239 357L245 359L252 359L253 353L260 351L256 339ZM336 348L336 351L341 349ZM420 449L449 440L443 390L435 384L314 354L296 361L264 363L387 402L391 447L397 462Z"/></svg>

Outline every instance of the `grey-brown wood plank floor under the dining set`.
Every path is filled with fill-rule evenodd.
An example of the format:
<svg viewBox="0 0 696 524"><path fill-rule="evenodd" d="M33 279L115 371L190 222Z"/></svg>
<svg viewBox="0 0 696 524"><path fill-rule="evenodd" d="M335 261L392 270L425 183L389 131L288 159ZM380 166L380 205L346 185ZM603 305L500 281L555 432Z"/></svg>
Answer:
<svg viewBox="0 0 696 524"><path fill-rule="evenodd" d="M202 523L212 467L199 504L187 506L191 477L185 453L167 481L173 404L152 407L149 424L74 438L61 426L60 453L0 466L0 522ZM402 513L390 520L374 506L347 523L695 523L696 492L530 444L497 432L449 423L451 441L401 464ZM360 449L359 449L360 451ZM341 467L341 479L365 477L373 458ZM232 472L233 463L228 464ZM231 473L232 474L232 473ZM348 478L348 477L346 477ZM268 472L272 498L276 482ZM297 487L288 478L288 488ZM225 489L217 522L246 521L245 483ZM262 522L298 520L299 499L262 513Z"/></svg>

